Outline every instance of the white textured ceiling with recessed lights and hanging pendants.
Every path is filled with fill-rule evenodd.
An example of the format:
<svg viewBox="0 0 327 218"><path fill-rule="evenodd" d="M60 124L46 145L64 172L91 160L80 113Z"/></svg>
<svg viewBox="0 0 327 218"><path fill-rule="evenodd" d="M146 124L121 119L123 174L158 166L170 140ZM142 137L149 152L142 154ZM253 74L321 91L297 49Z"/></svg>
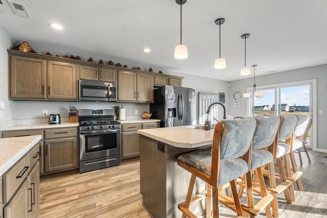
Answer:
<svg viewBox="0 0 327 218"><path fill-rule="evenodd" d="M182 42L188 58L174 58L180 43L180 6L175 0L14 0L26 6L31 19L0 5L0 25L18 41L49 51L103 57L104 60L214 78L244 79L246 65L257 64L256 76L327 63L327 1L325 0L188 0L182 6ZM225 69L214 69L219 56L217 18L221 26L221 57ZM52 29L56 22L62 31ZM150 53L142 49L149 47ZM38 52L38 51L36 51ZM132 67L132 66L131 66ZM157 71L158 71L157 70Z"/></svg>

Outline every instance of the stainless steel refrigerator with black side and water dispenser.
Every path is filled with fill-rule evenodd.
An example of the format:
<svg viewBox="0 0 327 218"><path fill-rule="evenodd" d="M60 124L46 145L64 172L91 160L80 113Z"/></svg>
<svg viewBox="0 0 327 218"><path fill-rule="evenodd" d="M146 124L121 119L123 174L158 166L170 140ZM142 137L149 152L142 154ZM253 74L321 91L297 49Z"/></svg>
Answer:
<svg viewBox="0 0 327 218"><path fill-rule="evenodd" d="M160 127L192 125L192 103L195 90L180 86L154 89L154 102L150 104L151 118L160 119Z"/></svg>

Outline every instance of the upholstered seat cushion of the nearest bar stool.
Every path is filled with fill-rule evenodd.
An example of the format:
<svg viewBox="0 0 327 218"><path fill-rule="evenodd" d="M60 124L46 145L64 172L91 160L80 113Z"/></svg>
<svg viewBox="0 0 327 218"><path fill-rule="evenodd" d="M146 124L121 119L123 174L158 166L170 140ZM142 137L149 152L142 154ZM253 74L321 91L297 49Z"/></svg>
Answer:
<svg viewBox="0 0 327 218"><path fill-rule="evenodd" d="M203 149L180 155L181 160L199 171L211 176L211 149ZM219 162L219 182L221 186L248 172L248 165L242 158L225 159Z"/></svg>

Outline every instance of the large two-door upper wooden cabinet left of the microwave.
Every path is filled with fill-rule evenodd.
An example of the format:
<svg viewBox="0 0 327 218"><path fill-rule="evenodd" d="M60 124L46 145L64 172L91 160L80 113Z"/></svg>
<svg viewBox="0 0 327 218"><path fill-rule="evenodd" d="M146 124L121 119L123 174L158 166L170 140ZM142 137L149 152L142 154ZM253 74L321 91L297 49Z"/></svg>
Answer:
<svg viewBox="0 0 327 218"><path fill-rule="evenodd" d="M9 99L77 101L76 64L10 55Z"/></svg>

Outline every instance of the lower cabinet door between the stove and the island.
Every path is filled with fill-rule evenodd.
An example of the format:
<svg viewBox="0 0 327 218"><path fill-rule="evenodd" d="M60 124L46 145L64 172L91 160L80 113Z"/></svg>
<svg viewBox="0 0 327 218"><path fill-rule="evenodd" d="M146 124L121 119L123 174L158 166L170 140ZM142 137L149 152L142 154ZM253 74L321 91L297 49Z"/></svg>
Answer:
<svg viewBox="0 0 327 218"><path fill-rule="evenodd" d="M122 132L122 158L139 156L139 134Z"/></svg>

